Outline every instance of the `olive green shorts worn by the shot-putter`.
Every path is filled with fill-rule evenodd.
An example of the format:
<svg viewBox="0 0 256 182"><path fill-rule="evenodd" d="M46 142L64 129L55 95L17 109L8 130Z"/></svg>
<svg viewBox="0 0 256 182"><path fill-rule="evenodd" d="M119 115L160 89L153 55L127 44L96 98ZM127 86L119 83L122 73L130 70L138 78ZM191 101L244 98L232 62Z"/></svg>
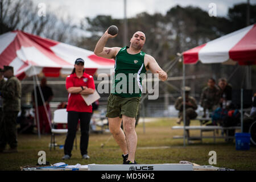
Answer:
<svg viewBox="0 0 256 182"><path fill-rule="evenodd" d="M120 97L110 94L108 98L106 117L122 118L122 115L127 117L136 118L139 110L141 97Z"/></svg>

